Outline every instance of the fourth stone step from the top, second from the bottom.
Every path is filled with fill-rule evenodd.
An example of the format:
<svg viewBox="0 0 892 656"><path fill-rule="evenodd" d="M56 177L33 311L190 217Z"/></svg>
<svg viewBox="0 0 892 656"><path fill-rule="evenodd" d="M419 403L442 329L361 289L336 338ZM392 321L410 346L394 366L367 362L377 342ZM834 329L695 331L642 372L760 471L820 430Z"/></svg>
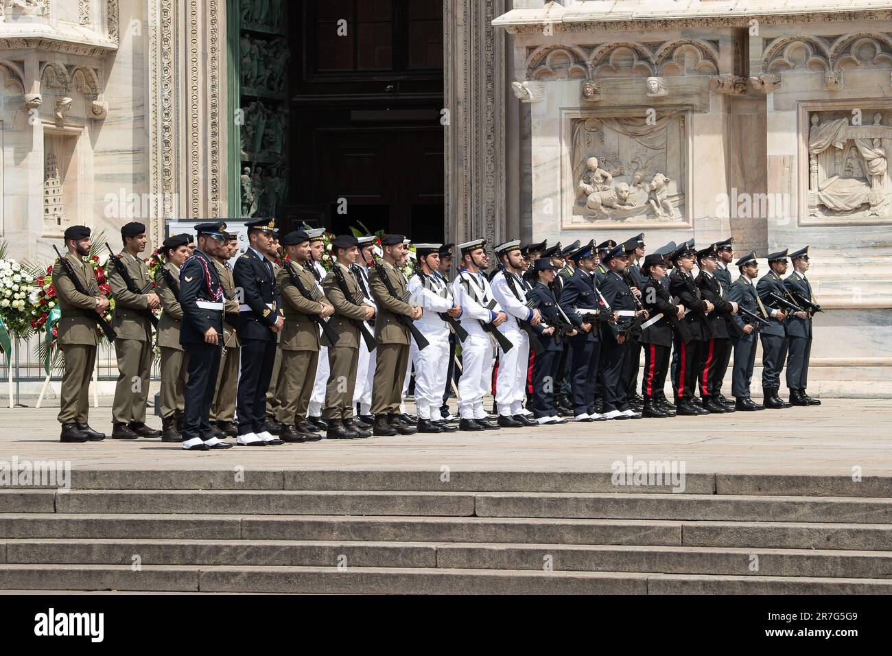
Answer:
<svg viewBox="0 0 892 656"><path fill-rule="evenodd" d="M553 569L892 578L892 553L739 547L283 540L10 540L6 564ZM2 560L0 560L2 562Z"/></svg>

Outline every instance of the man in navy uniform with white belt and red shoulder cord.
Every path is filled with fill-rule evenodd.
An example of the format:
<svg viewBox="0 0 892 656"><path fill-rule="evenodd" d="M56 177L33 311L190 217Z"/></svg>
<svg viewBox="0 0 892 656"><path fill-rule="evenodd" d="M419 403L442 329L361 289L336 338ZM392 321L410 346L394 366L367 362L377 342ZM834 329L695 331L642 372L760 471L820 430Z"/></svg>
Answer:
<svg viewBox="0 0 892 656"><path fill-rule="evenodd" d="M195 226L198 247L179 270L179 304L183 319L179 343L189 354L188 380L184 392L183 449L207 451L229 449L214 435L209 419L217 386L220 350L223 345L223 287L211 258L227 246L226 224Z"/></svg>

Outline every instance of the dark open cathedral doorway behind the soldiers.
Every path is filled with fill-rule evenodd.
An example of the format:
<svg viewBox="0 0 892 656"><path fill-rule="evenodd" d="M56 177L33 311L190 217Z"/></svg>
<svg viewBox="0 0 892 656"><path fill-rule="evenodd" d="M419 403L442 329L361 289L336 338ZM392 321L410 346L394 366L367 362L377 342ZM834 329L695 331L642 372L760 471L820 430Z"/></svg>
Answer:
<svg viewBox="0 0 892 656"><path fill-rule="evenodd" d="M442 239L442 2L288 5L289 181L280 223L318 217L335 233L361 223Z"/></svg>

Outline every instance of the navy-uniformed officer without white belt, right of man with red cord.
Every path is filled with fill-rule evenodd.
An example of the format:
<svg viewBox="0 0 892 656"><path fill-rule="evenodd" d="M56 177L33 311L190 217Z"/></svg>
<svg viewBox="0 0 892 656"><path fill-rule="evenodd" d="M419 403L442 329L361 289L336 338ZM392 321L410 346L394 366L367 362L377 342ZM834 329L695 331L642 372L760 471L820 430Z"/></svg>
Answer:
<svg viewBox="0 0 892 656"><path fill-rule="evenodd" d="M248 221L248 250L233 268L235 291L242 294L238 338L242 343L242 370L238 383L237 444L285 444L266 427L267 390L276 361L277 333L285 325L278 298L273 259L276 257L273 219Z"/></svg>

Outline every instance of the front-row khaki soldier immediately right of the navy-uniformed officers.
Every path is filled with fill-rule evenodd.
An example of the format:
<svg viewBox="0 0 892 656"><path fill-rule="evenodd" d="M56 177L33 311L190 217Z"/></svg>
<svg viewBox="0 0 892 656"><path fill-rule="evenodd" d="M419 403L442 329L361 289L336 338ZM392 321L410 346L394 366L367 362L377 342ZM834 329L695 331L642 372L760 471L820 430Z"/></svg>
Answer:
<svg viewBox="0 0 892 656"><path fill-rule="evenodd" d="M277 419L282 429L278 436L284 442L313 442L322 436L306 423L319 359L319 328L310 315L326 319L335 308L319 292L316 278L307 268L308 262L312 266L307 233L290 232L282 239L282 245L288 260L276 277L285 311L285 326L279 338L282 364L278 393L282 403L277 409ZM294 280L300 285L295 285Z"/></svg>

